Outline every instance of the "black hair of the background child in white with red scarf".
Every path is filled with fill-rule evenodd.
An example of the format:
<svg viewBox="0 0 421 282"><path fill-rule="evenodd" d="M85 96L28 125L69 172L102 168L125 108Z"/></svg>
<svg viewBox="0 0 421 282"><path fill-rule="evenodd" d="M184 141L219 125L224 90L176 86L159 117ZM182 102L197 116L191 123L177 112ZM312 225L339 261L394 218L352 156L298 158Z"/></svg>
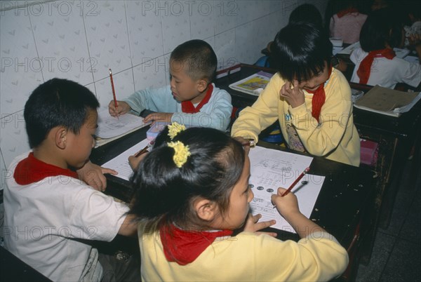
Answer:
<svg viewBox="0 0 421 282"><path fill-rule="evenodd" d="M363 51L384 49L386 43L392 48L402 41L402 18L391 8L382 8L368 15L361 27L360 44Z"/></svg>

